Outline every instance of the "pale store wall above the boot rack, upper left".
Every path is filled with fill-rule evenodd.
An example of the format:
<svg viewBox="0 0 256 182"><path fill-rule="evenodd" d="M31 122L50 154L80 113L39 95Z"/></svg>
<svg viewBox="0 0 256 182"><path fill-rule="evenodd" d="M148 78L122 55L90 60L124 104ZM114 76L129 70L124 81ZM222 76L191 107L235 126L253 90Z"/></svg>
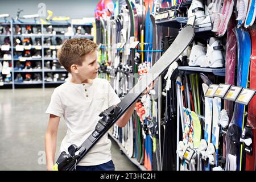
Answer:
<svg viewBox="0 0 256 182"><path fill-rule="evenodd" d="M69 16L71 19L81 19L94 17L94 8L97 2L98 0L0 0L0 14L10 14L10 17L15 18L18 9L23 10L20 16L39 14L42 11L38 5L44 3L46 10L53 11L53 16ZM43 16L43 18L46 17Z"/></svg>

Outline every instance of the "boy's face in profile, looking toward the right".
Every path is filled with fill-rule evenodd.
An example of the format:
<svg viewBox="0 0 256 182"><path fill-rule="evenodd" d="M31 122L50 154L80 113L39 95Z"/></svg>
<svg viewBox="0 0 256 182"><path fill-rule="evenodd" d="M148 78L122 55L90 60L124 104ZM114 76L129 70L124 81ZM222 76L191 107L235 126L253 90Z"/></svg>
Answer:
<svg viewBox="0 0 256 182"><path fill-rule="evenodd" d="M93 51L92 53L84 56L84 61L82 62L82 65L78 66L79 77L82 81L86 79L94 79L97 77L98 68L100 68L97 60L98 56L96 51Z"/></svg>

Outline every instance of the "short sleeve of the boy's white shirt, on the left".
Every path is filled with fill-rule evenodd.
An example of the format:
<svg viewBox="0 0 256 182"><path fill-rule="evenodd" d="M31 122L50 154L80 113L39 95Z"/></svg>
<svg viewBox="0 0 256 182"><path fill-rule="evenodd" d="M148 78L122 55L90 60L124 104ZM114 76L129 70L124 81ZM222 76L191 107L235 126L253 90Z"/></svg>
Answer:
<svg viewBox="0 0 256 182"><path fill-rule="evenodd" d="M49 103L49 106L46 110L46 114L53 114L57 115L58 117L61 117L64 113L62 104L61 104L61 98L57 90L55 89L51 96L51 101Z"/></svg>

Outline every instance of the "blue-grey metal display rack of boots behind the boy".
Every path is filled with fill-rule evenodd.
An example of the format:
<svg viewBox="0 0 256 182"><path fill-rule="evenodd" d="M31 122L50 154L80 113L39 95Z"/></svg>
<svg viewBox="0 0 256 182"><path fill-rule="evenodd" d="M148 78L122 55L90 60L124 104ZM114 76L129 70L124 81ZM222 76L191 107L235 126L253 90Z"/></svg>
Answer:
<svg viewBox="0 0 256 182"><path fill-rule="evenodd" d="M26 27L26 26L31 26L32 28L39 28L40 29L40 34L20 34L17 35L15 34L15 26L18 25L19 27ZM71 39L71 38L86 38L86 39L93 39L93 36L90 35L90 28L92 27L92 23L84 23L84 24L72 24L72 23L49 23L49 24L39 24L39 23L31 23L31 22L26 22L26 23L20 23L20 22L10 22L10 23L0 23L0 26L10 26L10 30L11 30L11 34L0 34L0 45L2 45L3 39L6 36L9 36L10 38L10 54L11 54L11 59L6 60L3 59L3 57L0 57L0 62L3 63L3 61L9 61L11 64L11 81L10 82L1 82L0 83L0 89L1 88L22 88L22 85L29 85L29 87L52 87L52 86L56 86L55 84L63 84L65 81L64 80L55 80L55 81L46 81L46 76L47 74L57 74L57 73L65 73L65 78L68 77L68 72L65 69L46 69L46 62L50 61L51 62L51 67L52 67L52 62L56 60L56 64L58 59L57 57L46 57L46 51L48 49L52 51L57 51L57 49L59 49L61 47L61 45L46 45L44 43L44 38L51 38L51 39L56 39L57 37L61 38L62 41L63 39ZM63 31L67 32L67 28L71 27L74 35L62 35L62 34L47 34L46 32L46 27L47 26L52 26L53 28L63 28ZM87 30L89 30L88 32L82 32L82 34L80 35L76 35L76 32L74 31L74 28L76 28L77 26L82 26L87 28ZM85 30L84 28L84 30ZM23 31L22 31L23 33ZM23 51L18 51L20 52L20 54L22 54L22 57L17 57L15 56L15 53L17 51L16 49L16 43L15 43L15 39L20 38L21 40L25 39L25 38L31 38L31 39L35 39L35 38L40 38L40 46L35 46L35 45L31 45L31 46L23 46ZM35 41L35 40L34 40ZM1 46L0 46L1 48ZM31 57L24 57L24 52L25 51L40 51L40 57L37 58L31 58ZM0 49L0 53L2 52L2 50ZM32 55L31 55L32 56ZM20 64L26 64L27 61L30 61L31 64L35 64L36 62L40 62L41 65L41 69L21 69L21 70L16 70L17 68L15 68L15 65L17 62L20 62ZM1 72L0 72L1 73ZM15 78L18 74L23 75L24 78L24 74L26 73L39 73L42 76L42 81L30 81L30 82L18 82L15 81ZM2 74L1 74L2 75ZM1 76L0 75L0 76Z"/></svg>

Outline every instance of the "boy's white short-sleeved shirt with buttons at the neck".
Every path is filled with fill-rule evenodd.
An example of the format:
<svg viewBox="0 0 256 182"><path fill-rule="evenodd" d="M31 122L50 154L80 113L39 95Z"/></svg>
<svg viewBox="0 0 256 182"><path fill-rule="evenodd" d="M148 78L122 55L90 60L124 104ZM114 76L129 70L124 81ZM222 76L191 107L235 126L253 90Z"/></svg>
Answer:
<svg viewBox="0 0 256 182"><path fill-rule="evenodd" d="M55 88L46 113L63 116L67 124L60 152L68 152L71 144L80 147L95 129L101 111L120 101L109 82L102 78L95 78L90 84L68 81ZM111 141L105 134L78 165L94 166L109 162L112 159L110 147Z"/></svg>

